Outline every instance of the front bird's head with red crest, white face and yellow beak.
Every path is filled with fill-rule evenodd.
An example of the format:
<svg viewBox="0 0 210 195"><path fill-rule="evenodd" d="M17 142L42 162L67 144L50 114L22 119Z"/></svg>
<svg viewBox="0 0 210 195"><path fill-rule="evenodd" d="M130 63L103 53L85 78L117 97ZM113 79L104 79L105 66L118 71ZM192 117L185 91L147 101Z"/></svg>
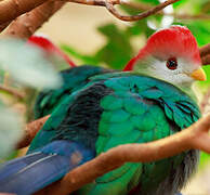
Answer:
<svg viewBox="0 0 210 195"><path fill-rule="evenodd" d="M156 31L123 70L145 73L180 87L206 80L196 39L183 26Z"/></svg>

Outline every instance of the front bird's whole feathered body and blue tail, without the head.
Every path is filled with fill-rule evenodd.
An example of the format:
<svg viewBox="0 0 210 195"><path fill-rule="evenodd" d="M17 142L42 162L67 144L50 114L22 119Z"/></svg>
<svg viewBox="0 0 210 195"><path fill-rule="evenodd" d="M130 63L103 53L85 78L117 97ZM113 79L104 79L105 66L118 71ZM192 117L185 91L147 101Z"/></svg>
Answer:
<svg viewBox="0 0 210 195"><path fill-rule="evenodd" d="M6 192L14 185L18 191L9 192L34 193L111 147L168 136L199 117L197 104L184 91L162 80L130 73L94 76L56 106L34 139L28 156L17 159L11 172L6 170L15 161L0 170L5 170L0 190ZM69 159L76 151L83 160L73 166ZM75 194L174 195L195 170L197 159L198 152L188 151L149 164L128 162ZM27 178L36 174L32 172L41 170L44 173L37 174L37 185L29 182L24 186Z"/></svg>

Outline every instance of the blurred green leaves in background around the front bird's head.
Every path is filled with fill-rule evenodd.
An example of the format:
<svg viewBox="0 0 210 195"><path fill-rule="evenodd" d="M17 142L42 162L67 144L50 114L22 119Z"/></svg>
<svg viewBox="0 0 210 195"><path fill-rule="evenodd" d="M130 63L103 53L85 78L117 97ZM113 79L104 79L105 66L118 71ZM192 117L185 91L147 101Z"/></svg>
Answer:
<svg viewBox="0 0 210 195"><path fill-rule="evenodd" d="M140 3L146 3L147 5L158 4L158 0L135 0ZM121 10L126 12L126 14L136 14L140 10L131 9L128 6L121 6ZM209 0L182 0L173 4L172 9L175 14L208 14L210 13L210 1ZM103 26L97 27L100 34L105 36L106 43L102 46L99 51L91 55L81 54L80 51L76 51L74 47L70 46L62 46L62 49L84 64L93 64L93 65L106 65L107 67L114 69L122 69L124 65L129 62L129 60L134 56L139 48L133 44L133 41L146 41L146 39L158 28L166 27L163 22L165 16L155 15L149 16L146 20L142 20L139 22L131 23L130 26L126 26L123 28L118 27L114 23L109 23ZM184 25L187 26L193 35L196 37L198 46L201 47L204 44L209 43L210 39L210 22L209 21L196 21L196 20L178 20L172 18L172 23L167 25ZM210 84L210 66L204 67L207 73L208 80L199 82L200 88L209 88ZM205 90L202 90L205 91ZM207 154L201 155L200 165L205 165L206 161L210 160L210 156Z"/></svg>

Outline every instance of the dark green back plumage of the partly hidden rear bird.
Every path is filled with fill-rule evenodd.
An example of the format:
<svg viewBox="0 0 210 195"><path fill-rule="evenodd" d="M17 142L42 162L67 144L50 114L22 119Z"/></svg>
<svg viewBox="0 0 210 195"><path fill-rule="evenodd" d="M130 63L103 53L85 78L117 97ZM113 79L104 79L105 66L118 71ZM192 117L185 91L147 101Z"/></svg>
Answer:
<svg viewBox="0 0 210 195"><path fill-rule="evenodd" d="M60 73L63 79L62 87L56 90L42 91L38 95L35 103L35 118L51 114L66 96L86 86L90 77L107 72L110 70L90 65L62 70Z"/></svg>

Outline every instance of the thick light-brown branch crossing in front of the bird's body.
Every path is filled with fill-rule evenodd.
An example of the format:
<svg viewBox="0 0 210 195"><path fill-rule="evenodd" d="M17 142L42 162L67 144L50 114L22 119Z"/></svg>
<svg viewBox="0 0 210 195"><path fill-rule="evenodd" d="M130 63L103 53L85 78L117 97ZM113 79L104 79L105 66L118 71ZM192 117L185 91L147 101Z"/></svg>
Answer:
<svg viewBox="0 0 210 195"><path fill-rule="evenodd" d="M124 162L149 162L197 148L210 153L210 115L171 136L144 144L124 144L102 153L37 194L67 195Z"/></svg>

